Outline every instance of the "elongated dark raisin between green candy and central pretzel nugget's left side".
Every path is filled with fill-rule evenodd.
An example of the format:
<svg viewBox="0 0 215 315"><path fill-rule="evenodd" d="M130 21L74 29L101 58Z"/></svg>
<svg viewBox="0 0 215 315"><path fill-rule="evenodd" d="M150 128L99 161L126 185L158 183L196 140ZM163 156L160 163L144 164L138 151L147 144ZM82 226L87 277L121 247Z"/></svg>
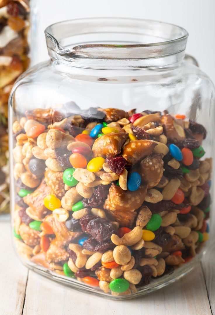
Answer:
<svg viewBox="0 0 215 315"><path fill-rule="evenodd" d="M109 192L109 185L99 185L91 198L84 198L82 203L85 207L96 208L104 202Z"/></svg>

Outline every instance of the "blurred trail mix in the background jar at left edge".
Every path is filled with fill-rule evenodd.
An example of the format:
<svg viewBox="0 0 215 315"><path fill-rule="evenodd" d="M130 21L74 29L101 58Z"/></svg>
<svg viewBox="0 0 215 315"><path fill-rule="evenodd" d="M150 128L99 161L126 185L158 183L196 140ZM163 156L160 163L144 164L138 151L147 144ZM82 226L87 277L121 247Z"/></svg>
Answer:
<svg viewBox="0 0 215 315"><path fill-rule="evenodd" d="M29 65L28 0L0 0L0 213L8 212L8 97Z"/></svg>

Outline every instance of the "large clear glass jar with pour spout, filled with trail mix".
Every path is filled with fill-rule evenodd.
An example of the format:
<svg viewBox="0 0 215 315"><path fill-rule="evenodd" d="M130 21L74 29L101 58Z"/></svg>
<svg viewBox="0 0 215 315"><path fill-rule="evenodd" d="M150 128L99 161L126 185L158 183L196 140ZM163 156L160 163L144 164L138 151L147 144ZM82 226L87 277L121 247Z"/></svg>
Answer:
<svg viewBox="0 0 215 315"><path fill-rule="evenodd" d="M113 299L174 282L208 243L214 150L214 87L184 60L187 31L107 18L45 33L50 60L10 96L20 259Z"/></svg>

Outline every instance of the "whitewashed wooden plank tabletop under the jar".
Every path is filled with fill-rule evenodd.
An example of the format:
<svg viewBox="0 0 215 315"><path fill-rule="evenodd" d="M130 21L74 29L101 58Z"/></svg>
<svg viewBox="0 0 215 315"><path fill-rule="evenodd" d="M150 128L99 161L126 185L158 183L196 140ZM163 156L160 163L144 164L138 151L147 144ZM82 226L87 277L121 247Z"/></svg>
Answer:
<svg viewBox="0 0 215 315"><path fill-rule="evenodd" d="M155 293L111 301L64 287L29 271L0 222L0 315L215 315L215 242L186 277Z"/></svg>

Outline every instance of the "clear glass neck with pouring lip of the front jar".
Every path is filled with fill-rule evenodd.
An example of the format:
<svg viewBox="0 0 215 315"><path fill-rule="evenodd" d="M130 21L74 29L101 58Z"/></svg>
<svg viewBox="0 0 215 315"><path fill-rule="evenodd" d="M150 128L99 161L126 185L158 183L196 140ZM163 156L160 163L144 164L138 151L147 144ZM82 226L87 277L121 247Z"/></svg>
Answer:
<svg viewBox="0 0 215 315"><path fill-rule="evenodd" d="M188 33L150 20L80 19L49 26L52 60L92 69L150 69L179 63ZM86 43L87 41L87 43Z"/></svg>

